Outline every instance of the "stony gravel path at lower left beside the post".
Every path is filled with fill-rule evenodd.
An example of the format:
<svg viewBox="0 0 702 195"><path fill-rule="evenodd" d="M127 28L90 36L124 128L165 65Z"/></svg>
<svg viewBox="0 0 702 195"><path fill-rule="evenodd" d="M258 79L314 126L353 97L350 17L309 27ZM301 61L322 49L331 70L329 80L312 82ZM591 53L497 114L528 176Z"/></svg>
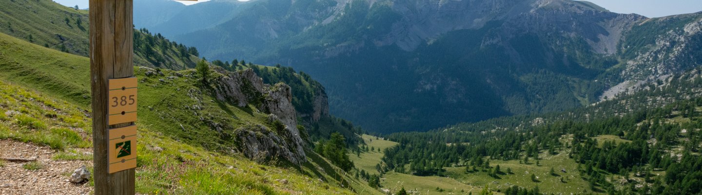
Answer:
<svg viewBox="0 0 702 195"><path fill-rule="evenodd" d="M33 159L43 165L39 170L22 168L25 163L4 162L0 167L0 194L92 194L93 187L86 182L68 182L69 176L82 165L92 166L92 161L54 161L54 151L49 147L13 140L0 140L0 157Z"/></svg>

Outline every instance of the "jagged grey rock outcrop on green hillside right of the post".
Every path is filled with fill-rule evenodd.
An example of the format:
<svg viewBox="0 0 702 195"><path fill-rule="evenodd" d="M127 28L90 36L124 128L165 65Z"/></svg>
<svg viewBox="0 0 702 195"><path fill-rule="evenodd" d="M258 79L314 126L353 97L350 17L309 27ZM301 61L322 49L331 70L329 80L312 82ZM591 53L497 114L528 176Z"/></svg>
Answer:
<svg viewBox="0 0 702 195"><path fill-rule="evenodd" d="M216 71L224 74L216 81L218 100L239 107L254 105L260 111L270 114L270 123L279 121L284 124L282 129L271 130L265 126L256 126L234 130L241 143L241 152L255 160L281 157L296 164L305 162L304 142L297 128L290 86L285 83L274 86L263 83L263 79L251 69L227 72L216 68Z"/></svg>

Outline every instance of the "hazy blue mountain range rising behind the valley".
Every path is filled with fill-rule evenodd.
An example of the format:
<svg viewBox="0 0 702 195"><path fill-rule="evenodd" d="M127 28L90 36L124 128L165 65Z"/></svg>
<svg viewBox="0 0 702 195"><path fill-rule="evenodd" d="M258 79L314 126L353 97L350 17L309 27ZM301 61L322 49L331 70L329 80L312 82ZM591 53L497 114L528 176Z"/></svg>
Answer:
<svg viewBox="0 0 702 195"><path fill-rule="evenodd" d="M586 1L174 3L135 2L135 25L208 59L307 72L332 114L380 133L564 111L700 62L700 14L651 19Z"/></svg>

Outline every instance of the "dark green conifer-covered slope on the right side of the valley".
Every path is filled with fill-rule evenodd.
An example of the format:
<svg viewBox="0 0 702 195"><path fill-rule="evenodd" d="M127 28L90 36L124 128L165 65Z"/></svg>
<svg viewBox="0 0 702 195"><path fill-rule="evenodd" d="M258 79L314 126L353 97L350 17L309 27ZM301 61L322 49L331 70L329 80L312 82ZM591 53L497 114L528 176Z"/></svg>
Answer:
<svg viewBox="0 0 702 195"><path fill-rule="evenodd" d="M568 174L568 162L573 162L576 170L567 171L583 176L589 186L585 191L696 194L702 190L698 186L701 72L698 68L670 76L569 112L462 123L428 133L395 133L388 137L399 146L385 152L386 166L380 170L458 178L485 175L483 180L498 181L517 178L527 181L517 185L534 187L540 179L512 175L505 167L519 163L538 170L546 164L551 171L563 168L563 173L550 175L563 175ZM562 155L567 162L552 163ZM560 181L544 183L542 192L562 192L558 187L577 180L567 182L562 177Z"/></svg>

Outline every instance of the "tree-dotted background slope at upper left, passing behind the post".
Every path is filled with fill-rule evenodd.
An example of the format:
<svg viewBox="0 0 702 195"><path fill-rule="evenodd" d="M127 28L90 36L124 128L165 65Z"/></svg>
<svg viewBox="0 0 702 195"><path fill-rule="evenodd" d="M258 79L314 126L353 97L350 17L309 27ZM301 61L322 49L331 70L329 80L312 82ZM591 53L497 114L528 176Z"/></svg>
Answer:
<svg viewBox="0 0 702 195"><path fill-rule="evenodd" d="M88 56L88 11L51 0L0 1L0 32L58 51ZM192 68L197 49L147 30L134 31L134 65L168 69Z"/></svg>

